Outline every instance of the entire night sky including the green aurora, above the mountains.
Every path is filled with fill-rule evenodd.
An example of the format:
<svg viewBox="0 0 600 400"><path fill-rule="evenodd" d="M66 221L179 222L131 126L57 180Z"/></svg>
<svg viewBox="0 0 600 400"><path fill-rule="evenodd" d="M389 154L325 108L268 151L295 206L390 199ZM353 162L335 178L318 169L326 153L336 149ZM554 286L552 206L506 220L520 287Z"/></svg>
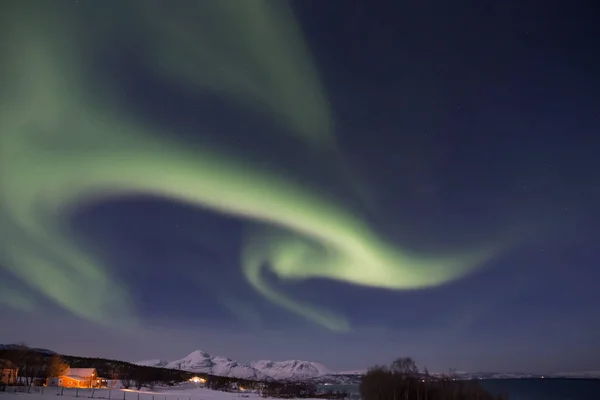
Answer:
<svg viewBox="0 0 600 400"><path fill-rule="evenodd" d="M241 3L2 3L0 343L600 369L593 2Z"/></svg>

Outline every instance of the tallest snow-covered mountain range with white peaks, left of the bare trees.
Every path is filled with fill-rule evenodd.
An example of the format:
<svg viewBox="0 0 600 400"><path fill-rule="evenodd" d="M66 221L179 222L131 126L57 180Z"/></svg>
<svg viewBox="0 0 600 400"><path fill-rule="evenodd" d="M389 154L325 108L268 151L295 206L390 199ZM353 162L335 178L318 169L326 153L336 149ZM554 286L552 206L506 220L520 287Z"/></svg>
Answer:
<svg viewBox="0 0 600 400"><path fill-rule="evenodd" d="M202 350L176 361L147 360L136 364L251 380L306 380L332 373L324 365L310 361L260 360L243 364L227 357L211 356Z"/></svg>

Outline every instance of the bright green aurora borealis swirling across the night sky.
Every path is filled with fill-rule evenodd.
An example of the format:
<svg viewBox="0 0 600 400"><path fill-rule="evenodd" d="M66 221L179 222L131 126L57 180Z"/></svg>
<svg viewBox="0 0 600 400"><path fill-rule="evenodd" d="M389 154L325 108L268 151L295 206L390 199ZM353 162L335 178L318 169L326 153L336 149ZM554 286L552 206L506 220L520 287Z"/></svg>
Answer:
<svg viewBox="0 0 600 400"><path fill-rule="evenodd" d="M285 15L268 15L265 13L266 3L252 3L252 12L235 7L233 3L227 4L203 3L207 9L199 10L198 14L210 19L242 19L241 27L248 26L247 32L240 33L242 38L252 37L252 28L256 28L253 24L263 20L261 27L272 31L269 37L286 37L285 31L277 30L277 22ZM219 17L220 12L224 13L224 17ZM254 16L254 12L258 16ZM245 18L254 19L246 21ZM197 22L196 19L193 21ZM178 30L171 33L170 25L161 19L161 27L163 23L166 32L159 33L161 38L166 37L163 40L168 43L179 43L175 35ZM287 24L293 27L293 20ZM277 179L270 171L260 170L251 162L244 163L212 149L184 149L162 139L159 132L121 115L123 112L95 104L98 100L86 92L85 83L76 80L81 75L74 65L76 62L70 64L68 61L81 58L73 50L75 44L63 43L59 39L53 43L53 32L46 33L45 24L39 19L18 25L36 26L41 32L36 35L20 32L19 27L11 29L14 44L18 47L11 59L20 60L33 69L9 72L15 77L15 95L11 97L19 98L21 94L36 101L28 104L27 108L11 110L3 117L9 133L3 136L2 149L6 153L2 156L2 169L11 171L11 174L2 180L2 203L5 219L10 221L7 226L16 230L5 233L6 237L16 238L16 243L7 243L3 253L7 254L6 264L13 274L83 317L91 315L99 321L109 320L117 309L127 310L125 294L115 291L111 297L103 295L113 282L104 275L101 261L89 259L73 245L73 238L66 234L62 220L66 216L61 211L73 207L72 203L94 201L99 197L136 192L156 194L262 222L268 227L286 229L288 234L263 235L262 240L266 243L256 243L251 234L243 251L242 271L248 282L272 301L331 329L348 327L341 320L320 315L315 309L274 292L261 280L261 268L270 266L284 279L329 278L387 289L411 289L456 279L486 261L491 254L488 250L448 259L411 257L386 244L343 205L327 200L292 180ZM203 38L201 34L204 32L194 32L191 25L183 24L178 28L190 29L187 36ZM207 37L210 38L211 34ZM45 38L43 48L26 45L41 43L42 38ZM245 50L256 57L258 51L254 51L252 46L261 47L242 40L238 43L235 38L230 39L232 44L228 41L221 43L217 34L213 36L214 43L206 40L209 41L206 49L193 46L188 52L181 50L183 57L187 58L186 68L179 68L180 63L167 68L174 74L180 74L184 82L198 82L203 86L202 61L211 56L213 48L233 54L243 54L242 50ZM273 79L274 82L267 82L266 87L254 88L252 83L258 79L246 81L239 77L240 72L232 71L231 76L209 78L210 88L227 92L227 85L239 79L240 83L233 84L236 93L232 96L239 91L241 98L254 94L257 100L267 99L276 115L288 117L290 131L297 131L301 138L319 144L323 140L315 138L332 136L328 124L321 122L329 119L328 113L322 110L326 109L326 102L319 101L320 97L313 94L319 90L304 90L318 87L319 83L311 75L302 73L303 69L310 68L296 68L297 65L302 66L308 55L303 54L300 45L293 46L294 42L289 41L288 51L292 56L300 53L297 56L301 60L299 64L267 63L270 58L277 60L277 54L281 53L278 43L273 45L273 56L269 53L257 60L240 60L242 65L249 65L248 70L256 71L257 76ZM235 46L240 46L240 49ZM61 51L61 48L68 50ZM174 59L166 55L149 56L152 57ZM197 67L190 67L189 64L193 66L196 58ZM243 68L227 60L213 59L212 63L223 70L229 66ZM282 78L275 79L279 74ZM28 84L33 77L34 83ZM306 82L294 82L299 77L305 78ZM38 79L39 83L36 82ZM219 85L221 81L223 83ZM294 93L294 96L288 92ZM295 97L300 99L300 104L288 105ZM302 107L302 104L308 106ZM96 111L98 109L102 111ZM305 114L296 115L298 110L305 111ZM68 113L74 116L65 123L62 118ZM92 115L94 120L90 120ZM32 121L36 128L28 127ZM50 139L44 138L45 135ZM324 139L324 142L327 141ZM60 148L55 145L56 142L61 144ZM75 145L70 147L72 143ZM19 243L21 240L25 244ZM52 250L48 251L48 247ZM60 278L67 275L69 279ZM49 280L55 282L46 285ZM77 299L83 293L91 303L80 308ZM93 309L91 314L90 307Z"/></svg>

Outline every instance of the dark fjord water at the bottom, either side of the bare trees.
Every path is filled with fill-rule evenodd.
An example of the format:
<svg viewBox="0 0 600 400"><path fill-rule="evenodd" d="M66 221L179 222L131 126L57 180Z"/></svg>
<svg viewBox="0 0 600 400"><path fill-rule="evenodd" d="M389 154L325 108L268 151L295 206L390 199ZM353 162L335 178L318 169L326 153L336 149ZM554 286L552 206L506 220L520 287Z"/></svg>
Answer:
<svg viewBox="0 0 600 400"><path fill-rule="evenodd" d="M510 400L600 400L600 379L494 379L479 381ZM321 386L322 390L358 393L357 385Z"/></svg>

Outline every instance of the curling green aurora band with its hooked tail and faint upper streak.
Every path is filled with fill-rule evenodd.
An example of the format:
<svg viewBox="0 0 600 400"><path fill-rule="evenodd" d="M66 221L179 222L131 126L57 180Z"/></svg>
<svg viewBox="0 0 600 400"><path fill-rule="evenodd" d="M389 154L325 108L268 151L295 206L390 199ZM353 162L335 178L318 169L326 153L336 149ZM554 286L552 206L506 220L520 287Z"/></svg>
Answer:
<svg viewBox="0 0 600 400"><path fill-rule="evenodd" d="M75 242L67 212L73 205L129 193L158 195L264 226L249 231L241 252L248 282L269 300L333 330L349 324L270 287L262 268L282 279L414 289L464 276L494 253L416 257L311 188L222 151L169 139L117 106L108 91L95 90L76 50L80 43L65 33L67 22L57 23L60 13L48 12L45 4L13 7L10 21L3 21L10 34L2 35L9 57L1 71L0 265L60 306L100 323L135 316L126 289ZM160 39L145 48L151 66L240 104L259 99L264 112L290 132L316 149L335 152L327 101L285 3L193 4L198 6L187 11L188 22L179 25L144 6L140 25ZM194 24L215 18L230 24L228 35ZM206 66L206 60L215 65ZM7 288L0 289L0 301L32 307L16 304L7 298Z"/></svg>

